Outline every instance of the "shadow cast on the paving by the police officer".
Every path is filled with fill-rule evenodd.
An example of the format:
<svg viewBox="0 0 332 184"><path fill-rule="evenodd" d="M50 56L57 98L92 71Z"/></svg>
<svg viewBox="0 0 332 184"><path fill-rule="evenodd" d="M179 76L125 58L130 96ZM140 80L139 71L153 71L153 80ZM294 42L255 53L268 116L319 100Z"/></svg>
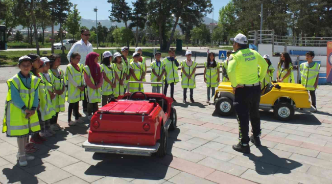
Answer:
<svg viewBox="0 0 332 184"><path fill-rule="evenodd" d="M253 147L254 145L251 148ZM292 159L280 158L278 155L271 152L266 146L259 146L257 149L263 154L262 156L256 156L254 154L244 154L244 156L247 156L250 160L252 160L252 162L255 164L255 171L260 175L276 173L289 174L291 173L291 170L303 166L301 163L298 163ZM286 169L282 169L280 171L280 169L277 167L267 167L265 163Z"/></svg>

